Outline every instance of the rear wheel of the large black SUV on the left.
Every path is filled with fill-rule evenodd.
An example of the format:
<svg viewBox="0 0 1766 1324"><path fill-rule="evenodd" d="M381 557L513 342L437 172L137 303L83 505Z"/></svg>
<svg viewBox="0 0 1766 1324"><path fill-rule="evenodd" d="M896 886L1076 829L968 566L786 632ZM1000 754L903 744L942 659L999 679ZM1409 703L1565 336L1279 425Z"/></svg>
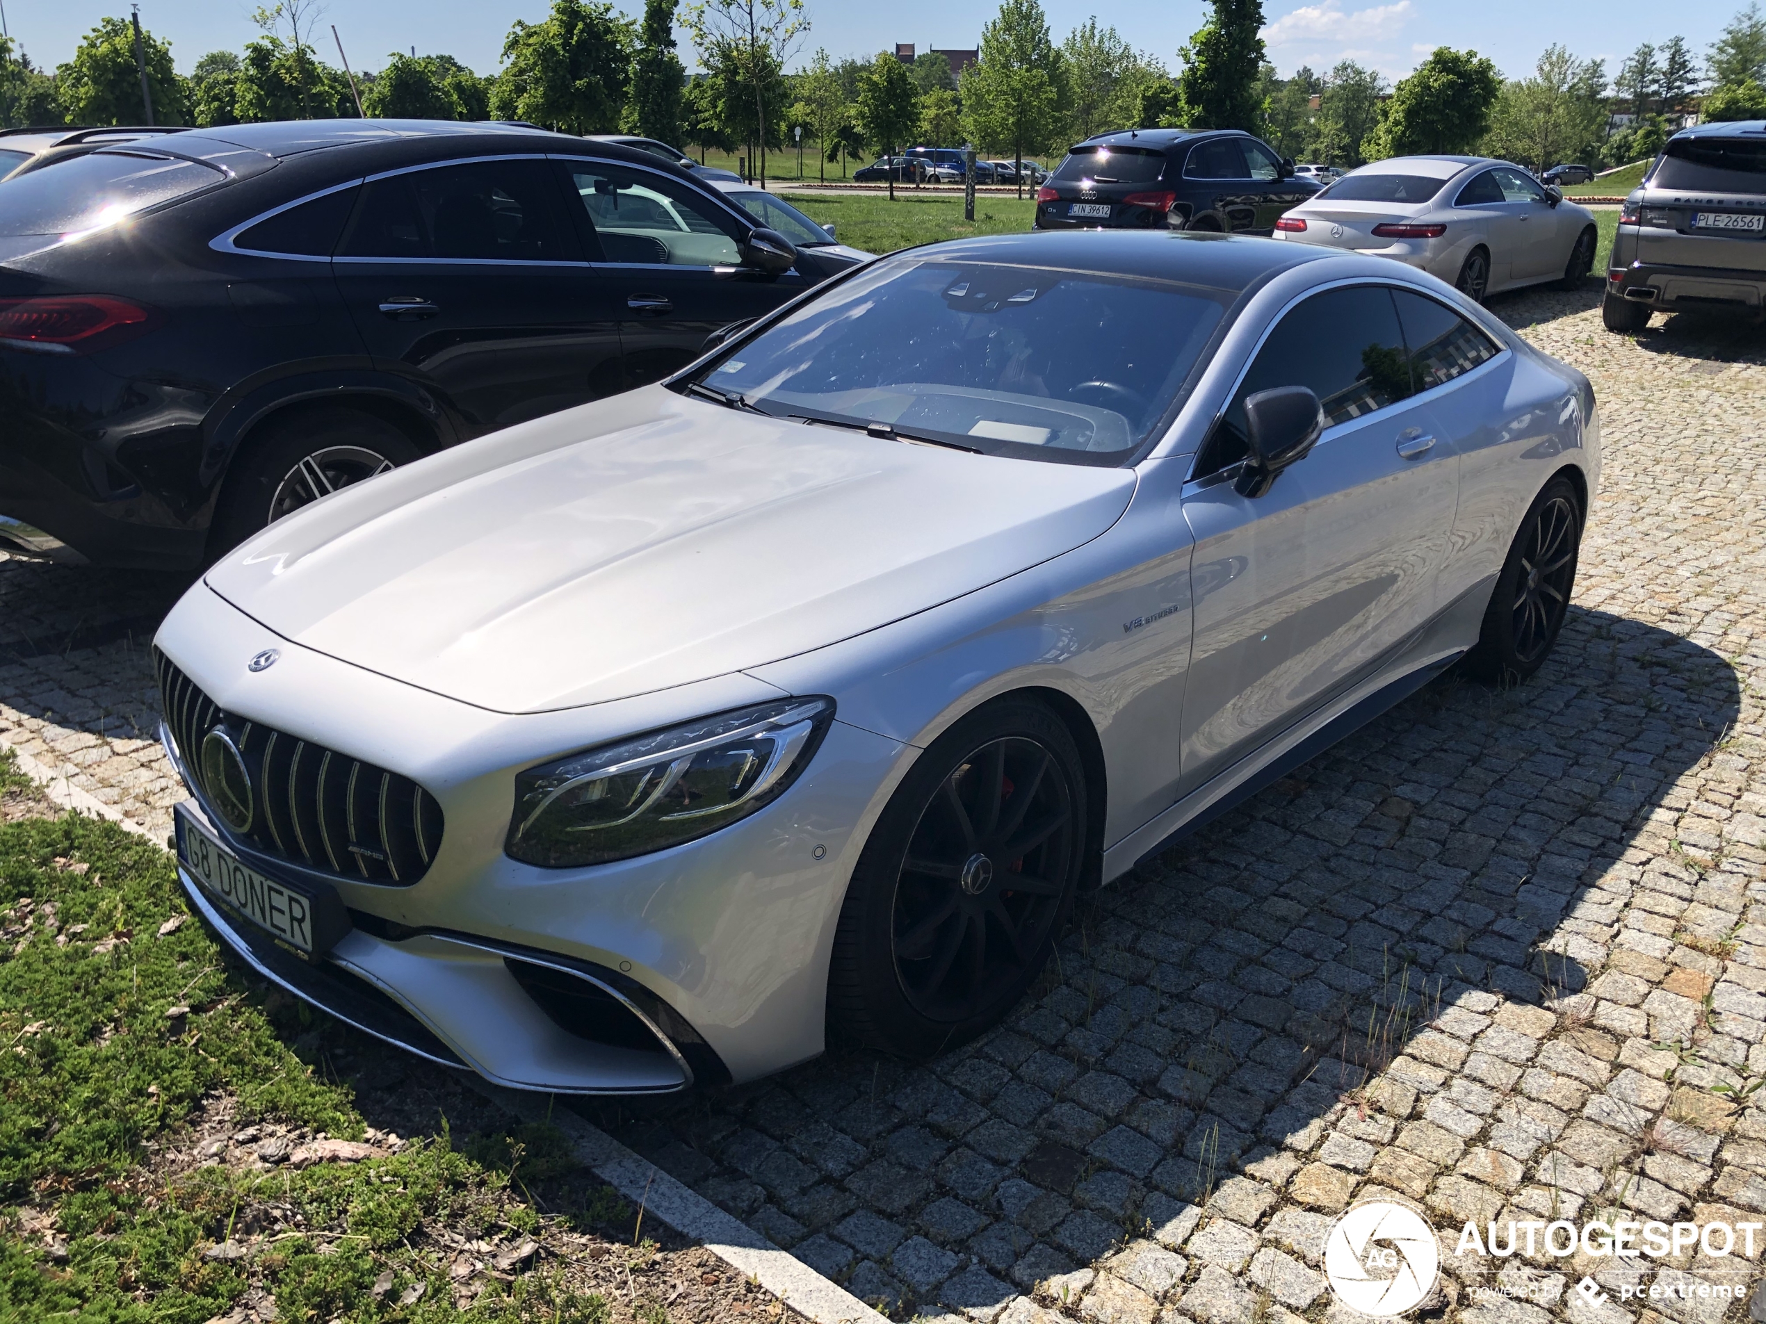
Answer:
<svg viewBox="0 0 1766 1324"><path fill-rule="evenodd" d="M233 459L208 554L223 556L328 491L410 464L422 452L404 433L371 413L327 406L270 418Z"/></svg>

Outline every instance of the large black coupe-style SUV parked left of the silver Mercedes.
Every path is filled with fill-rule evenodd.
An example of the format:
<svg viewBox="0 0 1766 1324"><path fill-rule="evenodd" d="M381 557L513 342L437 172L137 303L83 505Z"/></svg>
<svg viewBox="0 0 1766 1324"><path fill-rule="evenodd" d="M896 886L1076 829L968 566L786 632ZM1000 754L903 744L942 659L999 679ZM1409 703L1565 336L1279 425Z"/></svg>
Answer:
<svg viewBox="0 0 1766 1324"><path fill-rule="evenodd" d="M0 542L192 568L325 493L696 358L853 265L650 152L240 124L0 187Z"/></svg>

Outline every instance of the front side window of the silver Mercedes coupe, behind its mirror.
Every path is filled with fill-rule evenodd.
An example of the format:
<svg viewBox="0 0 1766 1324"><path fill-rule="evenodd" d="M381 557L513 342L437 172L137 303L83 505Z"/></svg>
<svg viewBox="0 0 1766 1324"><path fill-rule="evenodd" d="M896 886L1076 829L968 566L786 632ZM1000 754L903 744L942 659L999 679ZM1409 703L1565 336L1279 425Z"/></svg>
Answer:
<svg viewBox="0 0 1766 1324"><path fill-rule="evenodd" d="M1385 286L1346 286L1289 309L1240 381L1196 473L1215 473L1245 457L1245 397L1275 387L1310 387L1326 425L1360 418L1411 394L1404 334Z"/></svg>

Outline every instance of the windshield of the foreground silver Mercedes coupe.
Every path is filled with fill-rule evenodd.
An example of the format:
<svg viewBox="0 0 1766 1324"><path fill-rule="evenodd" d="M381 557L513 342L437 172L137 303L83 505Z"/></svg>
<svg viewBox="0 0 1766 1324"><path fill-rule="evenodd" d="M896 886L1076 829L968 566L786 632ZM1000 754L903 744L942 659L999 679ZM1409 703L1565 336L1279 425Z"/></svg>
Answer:
<svg viewBox="0 0 1766 1324"><path fill-rule="evenodd" d="M698 381L777 417L1109 464L1160 422L1224 298L1169 281L904 254L805 304Z"/></svg>

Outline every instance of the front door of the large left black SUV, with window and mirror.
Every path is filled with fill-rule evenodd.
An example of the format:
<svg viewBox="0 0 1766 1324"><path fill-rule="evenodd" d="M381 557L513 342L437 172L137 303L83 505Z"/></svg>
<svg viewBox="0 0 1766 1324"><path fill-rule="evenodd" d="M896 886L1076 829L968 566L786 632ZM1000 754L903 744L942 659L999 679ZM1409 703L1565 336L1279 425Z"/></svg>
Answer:
<svg viewBox="0 0 1766 1324"><path fill-rule="evenodd" d="M625 380L660 381L699 357L705 337L770 312L814 284L740 267L752 224L660 171L560 157L567 207L620 314Z"/></svg>

